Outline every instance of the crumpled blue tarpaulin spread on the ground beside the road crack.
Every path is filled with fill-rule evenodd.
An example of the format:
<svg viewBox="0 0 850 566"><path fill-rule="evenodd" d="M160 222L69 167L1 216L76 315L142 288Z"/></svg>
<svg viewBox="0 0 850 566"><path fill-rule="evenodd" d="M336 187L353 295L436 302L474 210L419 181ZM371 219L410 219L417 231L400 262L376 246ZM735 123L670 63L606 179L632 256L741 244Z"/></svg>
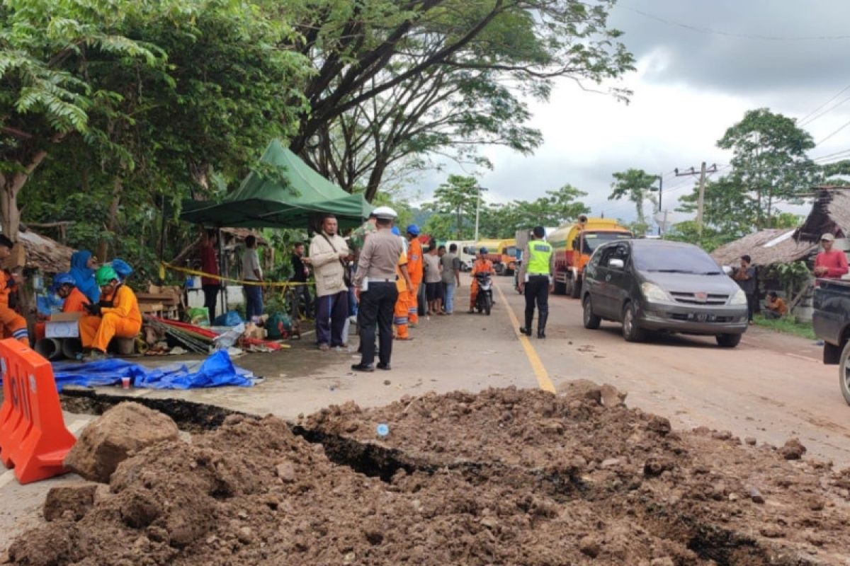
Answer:
<svg viewBox="0 0 850 566"><path fill-rule="evenodd" d="M96 387L120 384L130 378L133 387L148 389L195 389L234 385L250 387L254 376L230 361L227 350L218 350L204 361L173 363L162 367L142 367L117 358L88 363L64 361L54 363L54 377L59 391L65 385Z"/></svg>

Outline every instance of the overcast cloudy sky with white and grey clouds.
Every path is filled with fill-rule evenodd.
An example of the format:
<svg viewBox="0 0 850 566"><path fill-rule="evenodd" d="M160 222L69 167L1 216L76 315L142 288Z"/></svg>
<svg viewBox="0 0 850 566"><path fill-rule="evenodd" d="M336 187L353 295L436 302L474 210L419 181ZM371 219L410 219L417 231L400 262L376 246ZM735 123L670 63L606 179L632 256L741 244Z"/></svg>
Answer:
<svg viewBox="0 0 850 566"><path fill-rule="evenodd" d="M675 208L693 180L672 170L699 168L703 160L728 164L730 154L715 144L746 110L767 107L799 120L850 86L848 22L846 0L621 0L611 25L625 32L622 41L637 60L638 70L621 81L634 91L631 103L558 83L548 103L532 104L543 146L529 157L485 149L495 169L483 172L481 185L490 200L504 201L535 199L570 183L589 193L594 215L631 220L631 203L607 197L611 173L636 167L665 175L664 208ZM812 36L848 37L802 39ZM850 121L850 88L824 109L845 98L806 126L816 142ZM843 149L850 149L850 126L809 155ZM448 172L463 171L450 165L428 173L413 199L427 200Z"/></svg>

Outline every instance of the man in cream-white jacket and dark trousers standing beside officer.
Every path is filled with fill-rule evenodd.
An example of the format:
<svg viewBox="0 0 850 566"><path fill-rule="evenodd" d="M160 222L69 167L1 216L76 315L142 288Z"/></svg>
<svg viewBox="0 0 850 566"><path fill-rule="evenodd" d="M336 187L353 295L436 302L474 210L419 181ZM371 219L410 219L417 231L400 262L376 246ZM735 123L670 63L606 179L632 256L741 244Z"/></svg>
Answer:
<svg viewBox="0 0 850 566"><path fill-rule="evenodd" d="M347 346L343 328L348 318L345 270L348 244L337 234L336 216L325 216L322 229L310 242L309 258L316 280L316 341L319 350Z"/></svg>

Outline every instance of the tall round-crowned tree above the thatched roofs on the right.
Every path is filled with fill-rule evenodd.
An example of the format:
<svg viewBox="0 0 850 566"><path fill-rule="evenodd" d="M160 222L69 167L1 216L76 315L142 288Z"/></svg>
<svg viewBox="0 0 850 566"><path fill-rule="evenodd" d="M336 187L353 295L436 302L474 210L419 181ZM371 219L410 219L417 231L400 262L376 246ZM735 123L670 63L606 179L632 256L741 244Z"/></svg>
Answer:
<svg viewBox="0 0 850 566"><path fill-rule="evenodd" d="M731 149L732 182L755 207L755 226L767 227L779 202L799 204L819 176L808 158L812 136L796 121L769 109L749 110L728 128L717 147Z"/></svg>

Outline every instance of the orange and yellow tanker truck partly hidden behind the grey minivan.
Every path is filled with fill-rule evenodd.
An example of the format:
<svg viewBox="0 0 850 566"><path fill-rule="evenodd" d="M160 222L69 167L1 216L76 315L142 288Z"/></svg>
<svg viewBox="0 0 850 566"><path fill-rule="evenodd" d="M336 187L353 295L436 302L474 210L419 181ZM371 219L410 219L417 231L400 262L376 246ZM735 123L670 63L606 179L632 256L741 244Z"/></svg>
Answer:
<svg viewBox="0 0 850 566"><path fill-rule="evenodd" d="M584 267L599 244L633 238L628 228L609 218L580 216L574 224L564 224L547 238L555 255L555 293L577 299L581 294Z"/></svg>

